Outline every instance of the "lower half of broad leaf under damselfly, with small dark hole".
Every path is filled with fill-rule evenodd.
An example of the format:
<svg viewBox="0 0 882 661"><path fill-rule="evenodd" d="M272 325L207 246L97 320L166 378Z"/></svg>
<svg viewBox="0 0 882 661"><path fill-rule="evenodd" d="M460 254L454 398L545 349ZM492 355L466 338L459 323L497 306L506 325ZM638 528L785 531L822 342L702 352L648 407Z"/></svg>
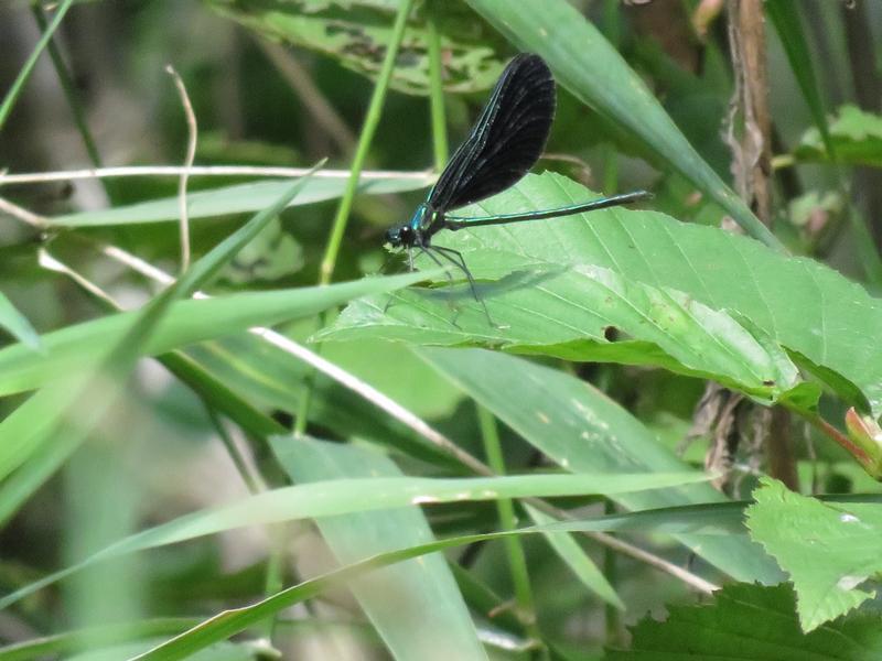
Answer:
<svg viewBox="0 0 882 661"><path fill-rule="evenodd" d="M470 264L498 257L470 252ZM503 284L499 294L493 293L493 285L482 288L481 295L491 292L487 300L497 326L490 326L476 305L454 314L445 310L441 296L410 290L395 294L388 307L388 299L354 302L319 337L484 345L567 360L656 365L714 379L765 401L775 401L799 384L797 369L781 347L762 333L754 337L727 313L689 294L632 282L592 266L555 273L552 264L542 264L539 270L546 273L536 277L535 286L506 290ZM475 272L481 274L482 268ZM524 280L529 284L527 277ZM467 291L459 292L458 300L465 295ZM607 339L611 333L625 337Z"/></svg>

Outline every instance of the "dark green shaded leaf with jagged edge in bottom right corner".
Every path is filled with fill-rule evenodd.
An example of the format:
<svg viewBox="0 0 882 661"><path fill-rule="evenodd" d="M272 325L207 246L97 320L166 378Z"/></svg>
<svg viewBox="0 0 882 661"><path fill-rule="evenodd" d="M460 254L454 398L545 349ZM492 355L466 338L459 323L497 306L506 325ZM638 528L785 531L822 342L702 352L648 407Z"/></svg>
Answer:
<svg viewBox="0 0 882 661"><path fill-rule="evenodd" d="M668 618L632 628L628 650L609 661L872 661L882 657L876 616L857 616L803 633L789 585L729 585L710 604L674 606Z"/></svg>

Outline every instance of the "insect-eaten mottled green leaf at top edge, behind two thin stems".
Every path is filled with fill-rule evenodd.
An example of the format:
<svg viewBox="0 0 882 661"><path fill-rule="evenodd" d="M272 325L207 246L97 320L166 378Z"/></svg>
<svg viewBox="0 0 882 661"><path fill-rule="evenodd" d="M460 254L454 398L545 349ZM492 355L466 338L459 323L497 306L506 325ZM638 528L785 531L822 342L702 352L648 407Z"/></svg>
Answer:
<svg viewBox="0 0 882 661"><path fill-rule="evenodd" d="M376 79L391 36L396 0L212 0L209 7L271 40L333 57ZM503 69L492 47L501 41L459 2L433 7L444 53L444 89L488 89ZM429 94L429 36L424 13L411 17L390 80L392 89Z"/></svg>

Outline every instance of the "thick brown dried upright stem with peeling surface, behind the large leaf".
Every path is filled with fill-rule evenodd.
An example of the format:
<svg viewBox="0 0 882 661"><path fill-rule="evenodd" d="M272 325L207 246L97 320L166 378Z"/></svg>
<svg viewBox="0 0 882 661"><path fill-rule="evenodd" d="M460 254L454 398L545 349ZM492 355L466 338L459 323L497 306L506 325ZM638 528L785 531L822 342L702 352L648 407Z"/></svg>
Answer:
<svg viewBox="0 0 882 661"><path fill-rule="evenodd" d="M732 96L728 140L739 194L766 226L772 219L772 118L768 111L762 0L729 0L729 44L735 89ZM735 138L735 113L743 113L744 132ZM796 458L789 438L789 412L772 410L766 452L772 475L797 489Z"/></svg>

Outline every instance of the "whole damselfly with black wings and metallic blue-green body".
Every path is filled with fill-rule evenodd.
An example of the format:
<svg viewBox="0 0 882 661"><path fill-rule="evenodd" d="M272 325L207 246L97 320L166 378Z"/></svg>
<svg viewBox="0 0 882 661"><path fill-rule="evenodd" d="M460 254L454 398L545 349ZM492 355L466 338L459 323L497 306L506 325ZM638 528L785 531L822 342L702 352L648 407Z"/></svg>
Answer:
<svg viewBox="0 0 882 661"><path fill-rule="evenodd" d="M650 197L646 191L613 195L556 209L521 212L477 218L455 216L450 212L481 202L517 183L539 160L555 118L555 77L538 55L517 55L493 88L490 100L472 132L438 177L429 196L407 223L386 231L386 242L405 248L411 258L417 249L438 266L448 261L465 273L472 295L490 318L487 306L477 295L472 272L462 253L453 248L434 246L432 237L442 229L503 225L570 216L620 206ZM412 269L412 258L410 260Z"/></svg>

